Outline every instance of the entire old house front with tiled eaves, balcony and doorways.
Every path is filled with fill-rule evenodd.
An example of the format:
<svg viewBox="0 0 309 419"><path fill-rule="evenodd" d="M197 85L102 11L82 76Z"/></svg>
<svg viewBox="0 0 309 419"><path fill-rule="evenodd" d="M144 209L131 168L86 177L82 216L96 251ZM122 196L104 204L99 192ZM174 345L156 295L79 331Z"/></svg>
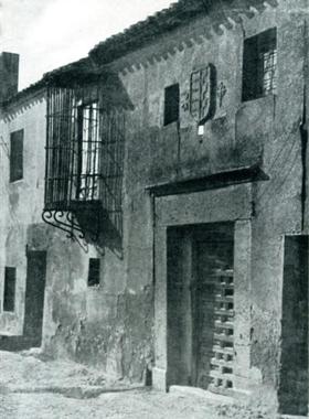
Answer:
<svg viewBox="0 0 309 419"><path fill-rule="evenodd" d="M3 103L0 347L303 413L308 4L220 3Z"/></svg>

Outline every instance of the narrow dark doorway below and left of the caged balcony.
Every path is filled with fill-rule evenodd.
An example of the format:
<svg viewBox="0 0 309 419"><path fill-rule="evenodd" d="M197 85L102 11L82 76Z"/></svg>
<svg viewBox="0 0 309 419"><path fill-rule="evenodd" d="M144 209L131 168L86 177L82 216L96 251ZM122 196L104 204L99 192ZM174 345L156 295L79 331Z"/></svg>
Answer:
<svg viewBox="0 0 309 419"><path fill-rule="evenodd" d="M21 336L0 336L0 350L2 351L23 351L40 347L42 343L46 253L28 251L26 258L23 334Z"/></svg>

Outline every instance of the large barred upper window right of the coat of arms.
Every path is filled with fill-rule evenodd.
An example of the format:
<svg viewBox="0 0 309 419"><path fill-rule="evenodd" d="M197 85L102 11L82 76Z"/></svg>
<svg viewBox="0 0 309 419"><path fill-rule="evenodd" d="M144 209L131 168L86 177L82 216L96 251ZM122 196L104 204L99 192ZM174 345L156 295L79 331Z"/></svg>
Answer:
<svg viewBox="0 0 309 419"><path fill-rule="evenodd" d="M269 29L244 42L243 100L275 94L277 88L277 30Z"/></svg>

